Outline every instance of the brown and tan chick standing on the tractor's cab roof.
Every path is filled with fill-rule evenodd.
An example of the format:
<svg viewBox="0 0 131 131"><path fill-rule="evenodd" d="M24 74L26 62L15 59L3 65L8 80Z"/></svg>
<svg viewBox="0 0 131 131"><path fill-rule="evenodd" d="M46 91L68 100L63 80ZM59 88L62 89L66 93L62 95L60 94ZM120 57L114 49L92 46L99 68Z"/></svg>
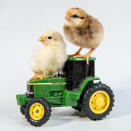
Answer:
<svg viewBox="0 0 131 131"><path fill-rule="evenodd" d="M103 26L96 18L88 15L80 8L68 9L65 19L63 31L66 38L71 43L80 46L75 54L69 56L85 57L88 63L91 53L99 46L103 38ZM82 48L90 48L91 50L84 55L80 55Z"/></svg>

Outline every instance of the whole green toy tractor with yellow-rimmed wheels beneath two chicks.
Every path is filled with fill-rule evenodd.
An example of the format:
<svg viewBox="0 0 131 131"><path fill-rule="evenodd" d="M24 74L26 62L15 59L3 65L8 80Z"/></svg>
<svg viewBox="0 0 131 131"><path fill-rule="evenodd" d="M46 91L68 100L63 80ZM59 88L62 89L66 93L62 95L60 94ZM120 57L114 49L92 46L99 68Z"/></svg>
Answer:
<svg viewBox="0 0 131 131"><path fill-rule="evenodd" d="M98 82L95 82L95 81ZM16 95L17 104L33 126L45 124L51 107L71 106L85 117L100 120L112 110L114 95L109 86L95 77L95 58L69 57L58 77L27 82L27 92Z"/></svg>

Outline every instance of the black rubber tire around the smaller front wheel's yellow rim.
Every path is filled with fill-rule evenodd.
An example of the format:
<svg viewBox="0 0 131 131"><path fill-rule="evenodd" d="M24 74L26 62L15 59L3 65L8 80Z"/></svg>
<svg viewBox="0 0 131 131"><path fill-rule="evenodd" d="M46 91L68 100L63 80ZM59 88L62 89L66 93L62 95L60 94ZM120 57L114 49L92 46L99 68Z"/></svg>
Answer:
<svg viewBox="0 0 131 131"><path fill-rule="evenodd" d="M29 109L31 107L32 104L34 103L40 103L43 105L44 109L45 109L45 114L44 116L40 119L40 120L33 120L31 117L30 117L30 114L29 114ZM41 98L37 98L37 99L32 99L27 105L26 105L26 109L25 109L25 118L27 119L27 121L33 125L33 126L36 126L36 127L39 127L43 124L45 124L49 118L50 118L50 115L51 115L51 108L50 108L50 105L48 104L48 102L44 99L41 99Z"/></svg>

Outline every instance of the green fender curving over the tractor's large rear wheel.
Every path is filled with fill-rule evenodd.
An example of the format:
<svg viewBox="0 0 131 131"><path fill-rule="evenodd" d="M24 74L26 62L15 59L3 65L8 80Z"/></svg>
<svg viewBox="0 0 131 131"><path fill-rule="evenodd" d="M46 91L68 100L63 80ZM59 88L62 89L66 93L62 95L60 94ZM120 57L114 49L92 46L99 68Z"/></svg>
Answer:
<svg viewBox="0 0 131 131"><path fill-rule="evenodd" d="M83 92L83 90L87 87L87 84L89 82L93 82L94 80L100 80L99 77L86 77L86 79L82 82L82 84L80 85L80 94Z"/></svg>

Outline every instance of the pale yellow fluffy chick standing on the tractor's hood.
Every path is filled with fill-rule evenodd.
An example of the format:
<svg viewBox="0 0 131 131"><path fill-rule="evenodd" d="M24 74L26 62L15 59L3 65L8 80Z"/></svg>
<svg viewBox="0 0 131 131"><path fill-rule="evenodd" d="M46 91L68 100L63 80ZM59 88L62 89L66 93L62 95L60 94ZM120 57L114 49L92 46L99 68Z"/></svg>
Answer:
<svg viewBox="0 0 131 131"><path fill-rule="evenodd" d="M63 68L67 59L65 42L60 33L44 32L39 41L42 45L35 49L29 63L34 73L30 80L52 76Z"/></svg>

